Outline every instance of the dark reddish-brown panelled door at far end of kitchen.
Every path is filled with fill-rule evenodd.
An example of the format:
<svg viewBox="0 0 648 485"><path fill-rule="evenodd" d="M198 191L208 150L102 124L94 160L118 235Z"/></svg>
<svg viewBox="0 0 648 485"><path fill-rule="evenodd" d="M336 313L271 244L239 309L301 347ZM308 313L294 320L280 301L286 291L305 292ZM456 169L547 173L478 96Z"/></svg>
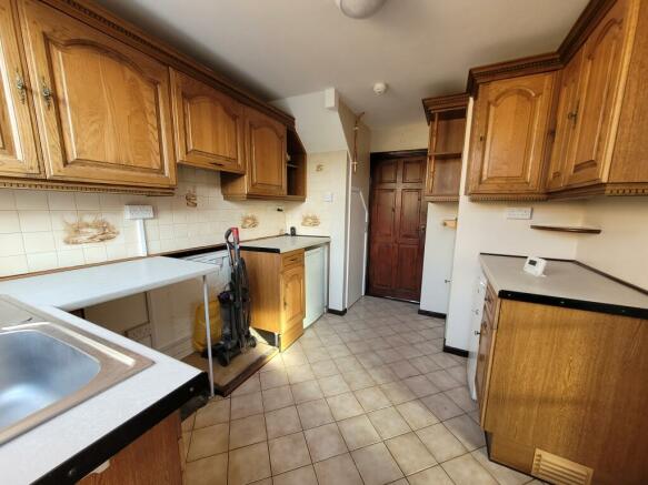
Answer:
<svg viewBox="0 0 648 485"><path fill-rule="evenodd" d="M368 293L419 301L427 204L426 158L371 166Z"/></svg>

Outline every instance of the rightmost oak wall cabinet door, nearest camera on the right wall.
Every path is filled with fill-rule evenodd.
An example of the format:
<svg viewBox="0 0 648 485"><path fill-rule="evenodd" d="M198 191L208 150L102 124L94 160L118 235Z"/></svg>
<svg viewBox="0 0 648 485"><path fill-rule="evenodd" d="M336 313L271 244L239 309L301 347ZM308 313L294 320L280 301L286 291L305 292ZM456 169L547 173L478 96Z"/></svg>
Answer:
<svg viewBox="0 0 648 485"><path fill-rule="evenodd" d="M612 120L618 115L627 1L618 0L585 44L575 154L566 185L605 181L611 156Z"/></svg>

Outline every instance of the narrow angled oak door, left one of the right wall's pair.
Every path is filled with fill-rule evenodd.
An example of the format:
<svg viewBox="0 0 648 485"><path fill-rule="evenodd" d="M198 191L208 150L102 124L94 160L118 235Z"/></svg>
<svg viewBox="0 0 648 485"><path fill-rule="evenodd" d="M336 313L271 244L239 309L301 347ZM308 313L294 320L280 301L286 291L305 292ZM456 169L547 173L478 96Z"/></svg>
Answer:
<svg viewBox="0 0 648 485"><path fill-rule="evenodd" d="M574 133L578 117L578 88L582 67L582 50L569 61L560 78L556 113L556 139L547 172L547 189L565 185L565 170L574 161Z"/></svg>

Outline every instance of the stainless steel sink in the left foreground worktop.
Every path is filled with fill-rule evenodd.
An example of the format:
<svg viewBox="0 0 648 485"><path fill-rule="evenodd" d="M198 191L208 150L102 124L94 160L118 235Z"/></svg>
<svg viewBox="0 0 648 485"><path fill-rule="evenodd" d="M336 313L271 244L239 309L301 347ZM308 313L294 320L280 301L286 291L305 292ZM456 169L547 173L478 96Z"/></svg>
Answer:
<svg viewBox="0 0 648 485"><path fill-rule="evenodd" d="M0 444L151 364L73 325L0 297Z"/></svg>

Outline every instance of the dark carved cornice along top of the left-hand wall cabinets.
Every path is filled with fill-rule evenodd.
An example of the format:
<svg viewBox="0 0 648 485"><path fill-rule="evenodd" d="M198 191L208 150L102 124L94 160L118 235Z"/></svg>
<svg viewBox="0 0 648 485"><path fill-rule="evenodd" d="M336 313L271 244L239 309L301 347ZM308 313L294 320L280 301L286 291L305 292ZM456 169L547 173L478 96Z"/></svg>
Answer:
<svg viewBox="0 0 648 485"><path fill-rule="evenodd" d="M148 34L138 26L121 19L109 10L90 0L42 0L50 7L71 16L90 27L99 29L121 42L152 55L173 69L192 75L236 100L252 107L287 127L295 127L295 118L266 103L260 97L241 89L232 80L198 63L189 55L169 47L161 40Z"/></svg>

